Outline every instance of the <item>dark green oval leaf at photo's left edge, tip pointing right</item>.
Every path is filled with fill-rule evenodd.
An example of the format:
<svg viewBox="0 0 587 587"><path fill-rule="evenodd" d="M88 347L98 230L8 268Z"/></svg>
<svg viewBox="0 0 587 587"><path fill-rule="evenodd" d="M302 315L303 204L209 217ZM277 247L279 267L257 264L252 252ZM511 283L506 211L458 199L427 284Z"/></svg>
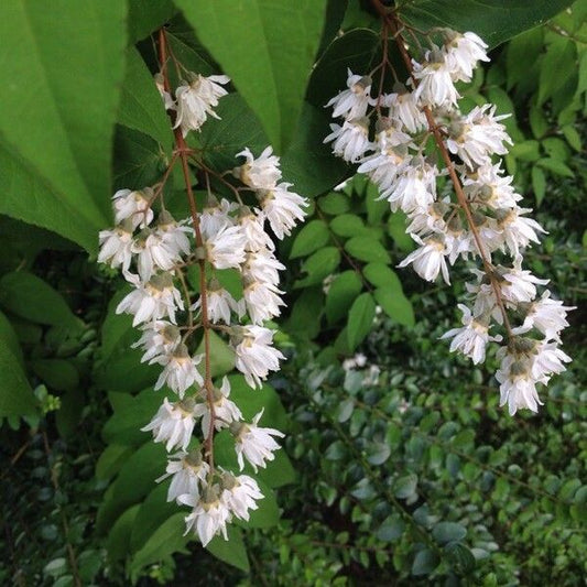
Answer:
<svg viewBox="0 0 587 587"><path fill-rule="evenodd" d="M72 329L81 325L59 292L26 271L14 271L2 275L0 305L17 316L39 324L65 326Z"/></svg>

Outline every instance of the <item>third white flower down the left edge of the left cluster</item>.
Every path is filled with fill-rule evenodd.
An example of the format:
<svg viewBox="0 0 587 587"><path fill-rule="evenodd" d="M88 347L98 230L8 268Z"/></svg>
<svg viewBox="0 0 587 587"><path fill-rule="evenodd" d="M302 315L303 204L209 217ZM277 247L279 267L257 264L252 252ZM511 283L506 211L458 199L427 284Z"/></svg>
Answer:
<svg viewBox="0 0 587 587"><path fill-rule="evenodd" d="M182 294L173 286L169 273L153 275L145 284L134 281L137 289L126 295L116 308L117 314L133 314L132 325L169 316L175 324L175 309L184 308Z"/></svg>

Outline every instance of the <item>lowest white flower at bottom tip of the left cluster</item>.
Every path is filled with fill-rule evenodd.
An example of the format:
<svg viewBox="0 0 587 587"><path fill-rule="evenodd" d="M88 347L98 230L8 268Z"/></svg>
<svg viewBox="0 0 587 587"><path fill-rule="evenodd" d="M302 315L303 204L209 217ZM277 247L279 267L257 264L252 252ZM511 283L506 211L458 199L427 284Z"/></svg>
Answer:
<svg viewBox="0 0 587 587"><path fill-rule="evenodd" d="M218 486L208 486L202 497L189 493L180 496L178 501L194 508L185 519L186 534L193 530L203 546L216 534L221 533L222 537L228 540L226 524L231 515L228 506L218 498Z"/></svg>

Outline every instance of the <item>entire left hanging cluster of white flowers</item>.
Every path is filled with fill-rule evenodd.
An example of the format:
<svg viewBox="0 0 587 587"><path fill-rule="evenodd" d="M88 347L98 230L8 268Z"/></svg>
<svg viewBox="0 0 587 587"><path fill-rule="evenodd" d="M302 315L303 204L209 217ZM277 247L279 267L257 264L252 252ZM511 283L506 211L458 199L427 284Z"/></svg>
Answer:
<svg viewBox="0 0 587 587"><path fill-rule="evenodd" d="M181 129L180 146L182 138L199 130L208 116L217 118L214 107L226 94L219 84L229 81L226 76L195 74L189 74L189 80L175 90L175 99L164 85L160 88L175 128ZM171 166L187 156L185 149L176 153L164 180ZM98 260L121 269L132 285L116 312L132 315L133 326L140 328L141 337L133 347L143 352L142 362L161 366L154 389L173 393L142 428L173 453L157 481L171 477L167 500L193 508L186 532L195 531L203 545L217 534L227 539L227 523L233 518L249 520L249 512L258 508L263 494L257 481L241 471L246 463L256 472L265 467L279 448L274 437L283 434L259 426L263 410L251 422L244 421L230 400L229 379L213 381L209 348L203 345L205 350L198 352L195 335L202 333L206 340L214 329L224 336L233 350L235 367L251 388L261 387L270 371L279 370L284 357L273 347L274 331L265 322L284 306L279 289L279 271L284 265L275 257L267 229L282 239L304 218L307 205L305 198L289 191L291 184L280 183L280 161L270 146L258 157L249 149L236 156L243 157L242 164L217 174L231 187L233 202L216 197L207 181L204 208L176 221L164 208L164 181L155 189L121 189L113 196L117 226L99 235ZM184 163L187 166L187 160ZM213 172L206 169L206 173ZM186 189L195 206L188 178ZM155 204L161 210L156 218ZM192 264L200 271L196 296L184 274ZM225 270L238 272L241 296L221 285ZM198 422L203 442L194 435ZM233 438L239 471L214 464L213 436L222 428Z"/></svg>

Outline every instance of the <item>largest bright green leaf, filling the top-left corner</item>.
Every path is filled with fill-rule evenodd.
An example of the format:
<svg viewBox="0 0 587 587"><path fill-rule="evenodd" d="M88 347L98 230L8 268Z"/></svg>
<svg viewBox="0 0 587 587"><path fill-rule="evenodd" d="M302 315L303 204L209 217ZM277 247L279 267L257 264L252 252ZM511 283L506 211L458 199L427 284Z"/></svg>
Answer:
<svg viewBox="0 0 587 587"><path fill-rule="evenodd" d="M126 2L0 4L0 211L90 252L108 224Z"/></svg>

